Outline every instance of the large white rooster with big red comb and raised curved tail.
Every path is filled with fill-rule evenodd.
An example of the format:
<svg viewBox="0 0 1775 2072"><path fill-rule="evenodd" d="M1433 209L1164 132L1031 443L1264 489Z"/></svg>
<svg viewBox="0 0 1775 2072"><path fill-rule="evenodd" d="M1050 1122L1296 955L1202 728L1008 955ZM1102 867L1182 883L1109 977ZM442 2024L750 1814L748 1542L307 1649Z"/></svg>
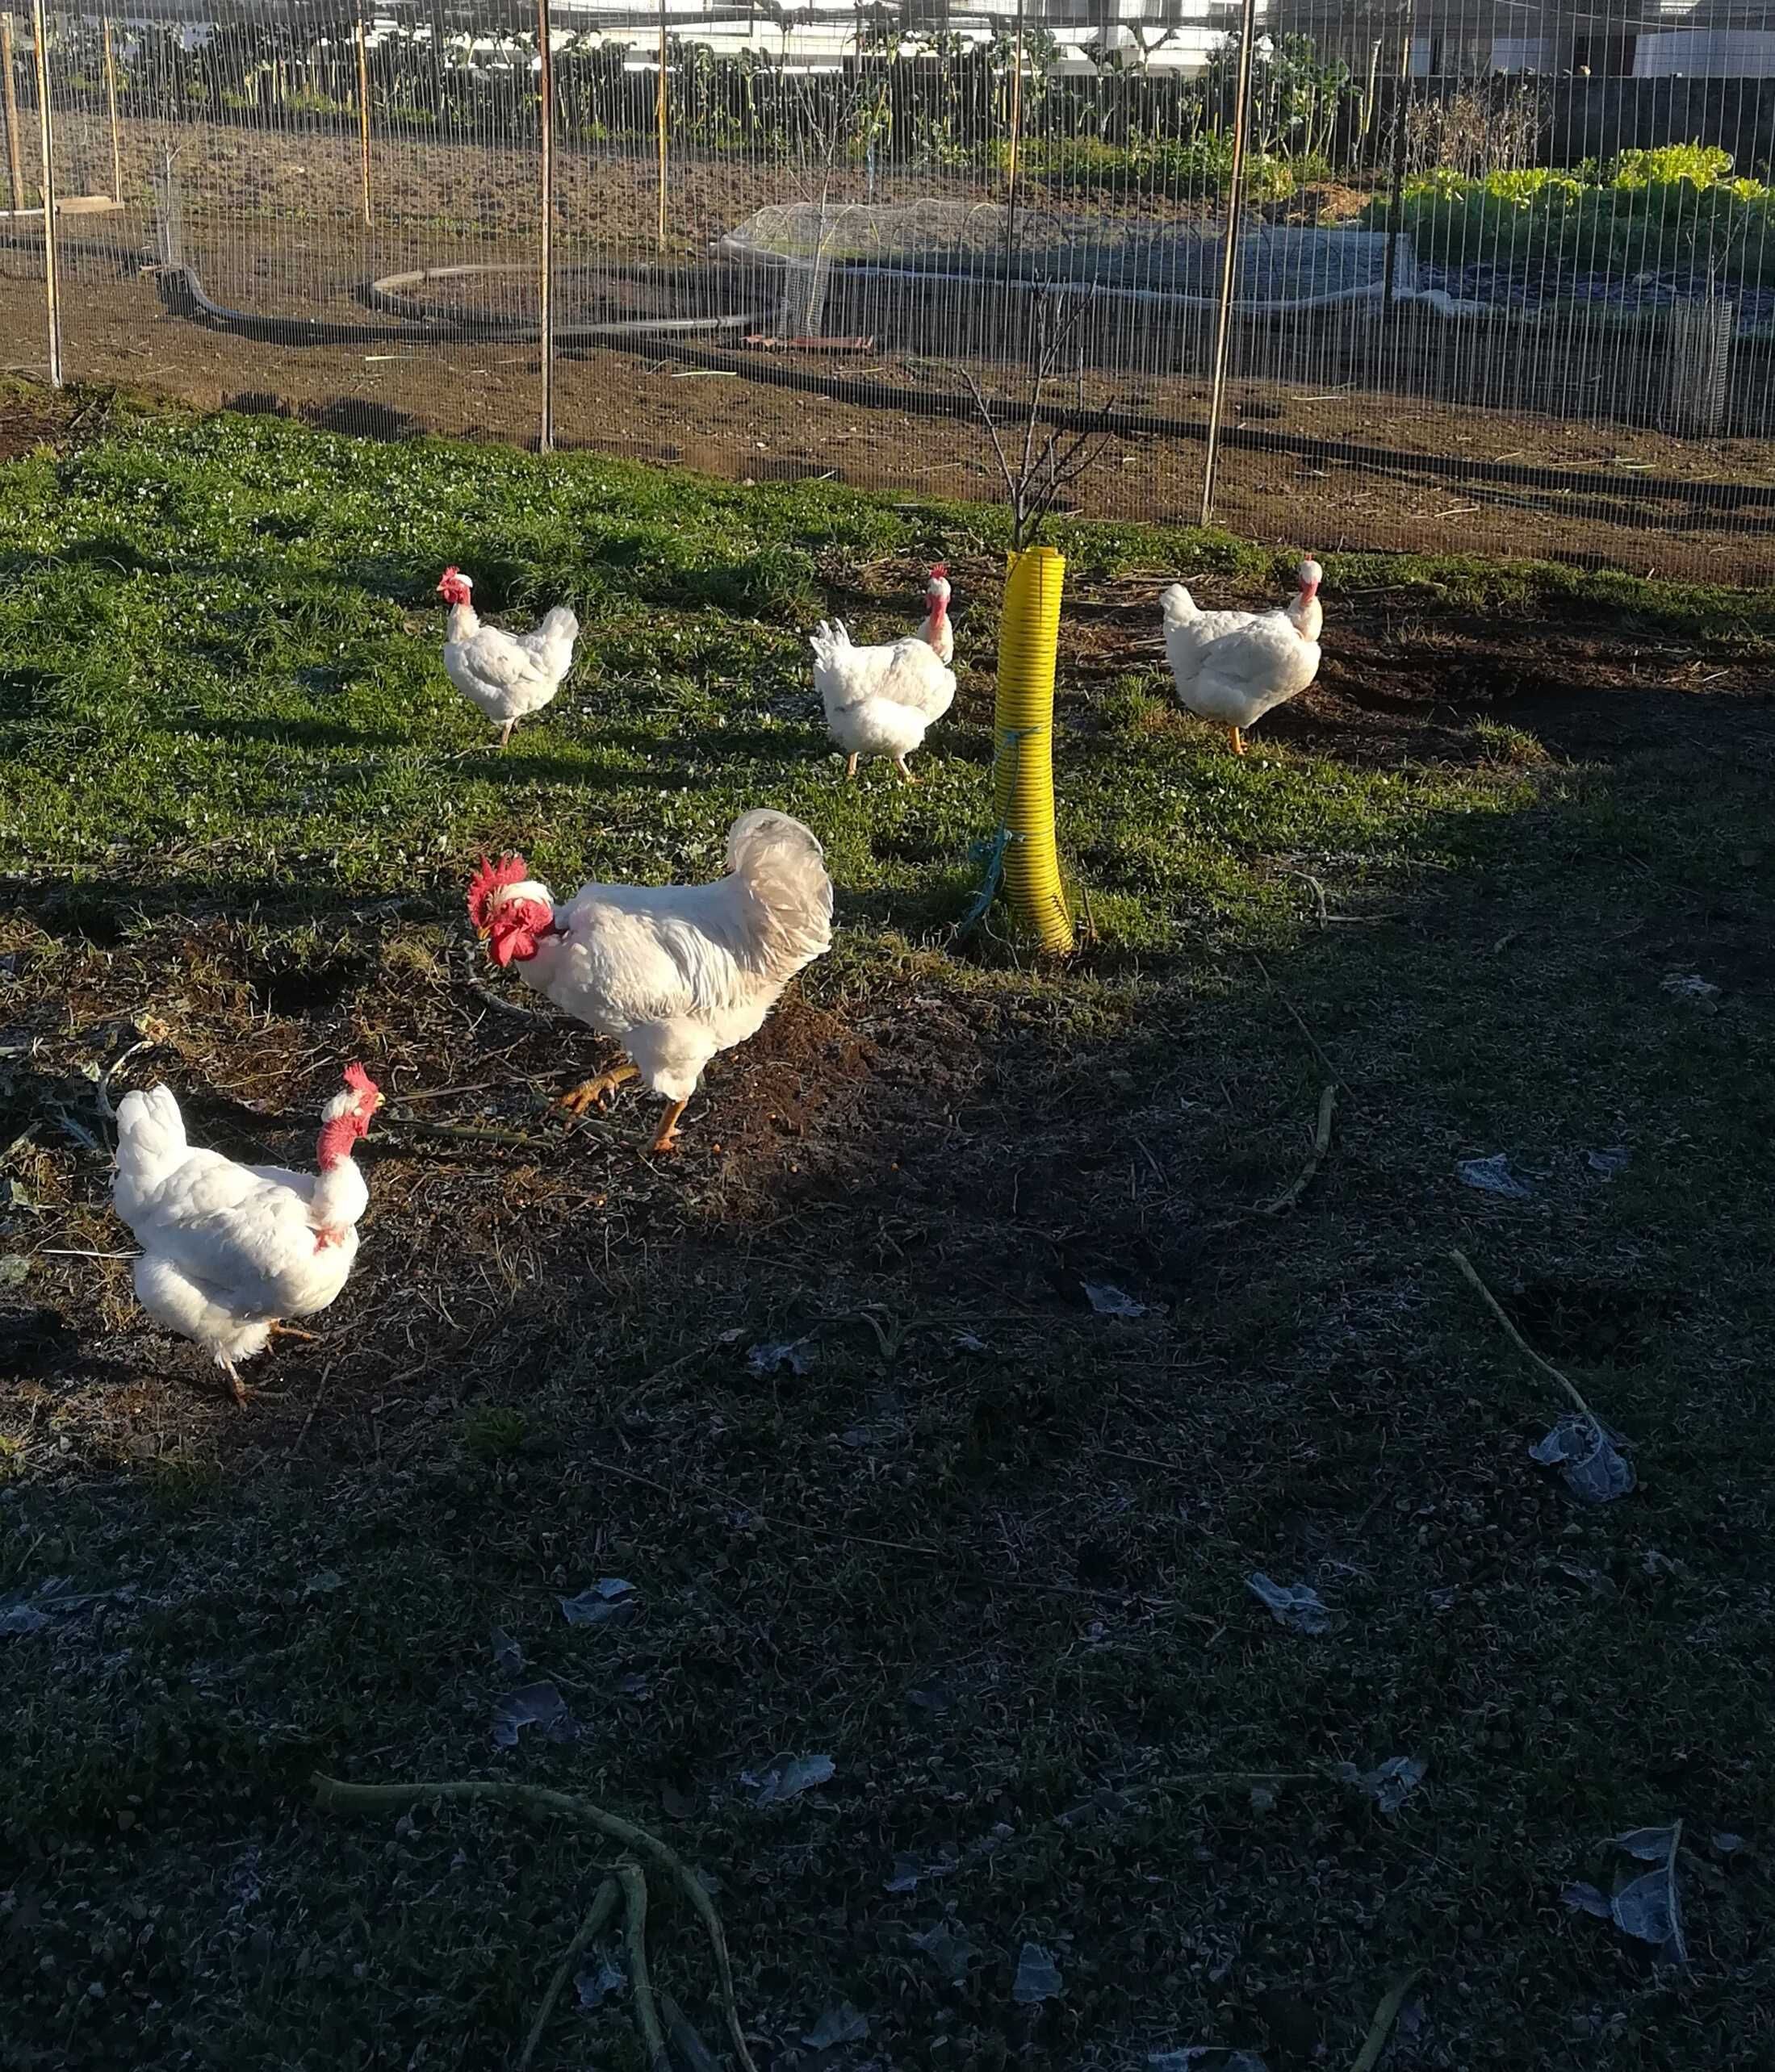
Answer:
<svg viewBox="0 0 1775 2072"><path fill-rule="evenodd" d="M678 1148L703 1067L763 1028L784 986L832 947L825 852L786 812L742 812L728 829L728 876L713 885L583 885L556 905L523 856L481 860L469 887L494 961L626 1063L562 1098L572 1115L639 1077L670 1106L655 1152Z"/></svg>

